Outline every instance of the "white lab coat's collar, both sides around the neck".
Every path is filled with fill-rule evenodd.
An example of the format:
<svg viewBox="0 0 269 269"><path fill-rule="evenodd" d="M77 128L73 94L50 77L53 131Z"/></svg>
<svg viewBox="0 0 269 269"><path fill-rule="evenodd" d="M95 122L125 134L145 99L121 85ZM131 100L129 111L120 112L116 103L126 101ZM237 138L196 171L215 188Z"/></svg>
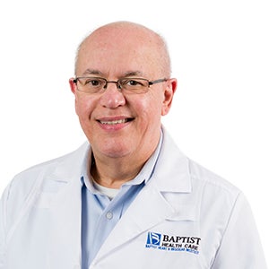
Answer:
<svg viewBox="0 0 269 269"><path fill-rule="evenodd" d="M60 178L61 181L66 183L74 179L77 183L79 181L80 186L82 186L82 181L78 179L82 177L82 167L87 165L85 160L91 161L89 154L91 154L91 145L88 142L83 143L78 150L70 153L63 158L62 162L59 162L50 177L56 180ZM188 159L179 151L178 145L173 141L164 126L162 126L161 152L156 161L152 177L155 186L161 192L191 192Z"/></svg>

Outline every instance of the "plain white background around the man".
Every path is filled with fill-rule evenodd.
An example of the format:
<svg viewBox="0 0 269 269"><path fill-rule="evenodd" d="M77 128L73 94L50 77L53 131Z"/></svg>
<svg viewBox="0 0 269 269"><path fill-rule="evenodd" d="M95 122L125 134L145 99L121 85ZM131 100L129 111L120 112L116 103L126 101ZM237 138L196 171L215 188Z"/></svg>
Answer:
<svg viewBox="0 0 269 269"><path fill-rule="evenodd" d="M191 159L247 195L268 256L268 0L1 3L1 193L22 169L85 140L68 86L82 38L139 22L167 39L178 78L163 123Z"/></svg>

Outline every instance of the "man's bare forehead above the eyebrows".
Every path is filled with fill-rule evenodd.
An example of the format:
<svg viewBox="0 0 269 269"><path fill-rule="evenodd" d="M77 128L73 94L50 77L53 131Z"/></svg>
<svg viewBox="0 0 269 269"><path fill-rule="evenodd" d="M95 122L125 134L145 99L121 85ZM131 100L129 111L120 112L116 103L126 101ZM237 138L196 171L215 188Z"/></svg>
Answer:
<svg viewBox="0 0 269 269"><path fill-rule="evenodd" d="M100 72L149 72L158 66L160 40L150 30L135 27L107 27L93 32L82 43L77 70Z"/></svg>

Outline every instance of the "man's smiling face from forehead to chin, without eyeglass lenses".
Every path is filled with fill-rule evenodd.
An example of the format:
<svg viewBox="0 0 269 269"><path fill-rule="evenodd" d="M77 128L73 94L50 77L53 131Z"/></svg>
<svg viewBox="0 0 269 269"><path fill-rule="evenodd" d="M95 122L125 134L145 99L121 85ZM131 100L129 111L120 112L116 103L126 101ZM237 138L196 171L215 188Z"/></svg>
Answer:
<svg viewBox="0 0 269 269"><path fill-rule="evenodd" d="M139 37L124 39L122 33L95 34L82 45L77 62L77 76L102 77L117 81L123 77L163 78L158 68L158 51ZM98 93L77 91L75 108L92 151L100 157L147 158L154 151L161 130L161 116L169 111L175 81L152 85L144 93L126 92L108 83Z"/></svg>

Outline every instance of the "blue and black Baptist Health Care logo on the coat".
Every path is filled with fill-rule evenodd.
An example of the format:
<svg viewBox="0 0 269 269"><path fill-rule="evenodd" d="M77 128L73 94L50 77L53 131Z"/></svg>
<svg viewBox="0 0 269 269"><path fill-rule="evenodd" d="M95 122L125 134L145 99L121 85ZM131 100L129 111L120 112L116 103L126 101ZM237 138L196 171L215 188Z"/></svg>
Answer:
<svg viewBox="0 0 269 269"><path fill-rule="evenodd" d="M166 251L186 251L199 254L201 239L196 237L170 236L157 232L148 232L145 247Z"/></svg>

